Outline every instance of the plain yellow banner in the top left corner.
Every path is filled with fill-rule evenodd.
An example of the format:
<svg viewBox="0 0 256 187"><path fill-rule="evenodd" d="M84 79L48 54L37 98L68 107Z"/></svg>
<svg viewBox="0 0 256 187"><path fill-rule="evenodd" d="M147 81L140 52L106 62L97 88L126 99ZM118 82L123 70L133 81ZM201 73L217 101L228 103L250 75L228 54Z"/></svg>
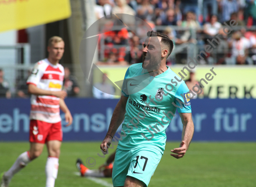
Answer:
<svg viewBox="0 0 256 187"><path fill-rule="evenodd" d="M0 0L0 31L25 29L66 19L69 0Z"/></svg>

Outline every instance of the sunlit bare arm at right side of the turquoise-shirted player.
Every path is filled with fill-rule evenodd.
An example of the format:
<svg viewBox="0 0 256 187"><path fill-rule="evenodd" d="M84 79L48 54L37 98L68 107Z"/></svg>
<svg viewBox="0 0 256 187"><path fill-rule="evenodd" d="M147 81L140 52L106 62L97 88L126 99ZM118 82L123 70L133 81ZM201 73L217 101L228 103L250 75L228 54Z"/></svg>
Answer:
<svg viewBox="0 0 256 187"><path fill-rule="evenodd" d="M183 130L182 130L182 143L179 148L171 150L174 154L171 154L174 158L182 158L188 150L189 144L194 134L194 124L191 113L179 113L182 119Z"/></svg>

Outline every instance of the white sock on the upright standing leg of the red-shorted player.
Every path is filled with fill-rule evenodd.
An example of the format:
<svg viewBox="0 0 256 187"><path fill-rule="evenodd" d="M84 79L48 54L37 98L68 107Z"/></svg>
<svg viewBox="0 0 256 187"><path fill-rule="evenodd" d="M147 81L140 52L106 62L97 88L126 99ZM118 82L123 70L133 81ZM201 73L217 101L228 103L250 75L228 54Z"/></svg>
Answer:
<svg viewBox="0 0 256 187"><path fill-rule="evenodd" d="M58 175L59 168L59 158L56 157L48 157L46 166L45 166L45 174L46 174L46 187L54 187L55 179Z"/></svg>

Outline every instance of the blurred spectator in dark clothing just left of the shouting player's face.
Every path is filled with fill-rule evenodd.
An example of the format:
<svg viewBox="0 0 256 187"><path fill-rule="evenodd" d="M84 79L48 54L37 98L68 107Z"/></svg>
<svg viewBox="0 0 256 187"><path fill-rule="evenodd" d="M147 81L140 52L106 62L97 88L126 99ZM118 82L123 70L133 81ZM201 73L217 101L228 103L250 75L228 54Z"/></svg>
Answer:
<svg viewBox="0 0 256 187"><path fill-rule="evenodd" d="M142 62L142 49L139 48L139 37L136 35L130 40L130 50L126 53L125 61L129 64Z"/></svg>

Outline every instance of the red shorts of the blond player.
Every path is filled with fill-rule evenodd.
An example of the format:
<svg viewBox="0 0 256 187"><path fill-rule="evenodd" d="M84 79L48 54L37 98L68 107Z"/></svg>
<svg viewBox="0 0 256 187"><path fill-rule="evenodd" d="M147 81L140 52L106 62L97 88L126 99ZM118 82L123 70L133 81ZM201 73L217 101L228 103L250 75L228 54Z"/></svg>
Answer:
<svg viewBox="0 0 256 187"><path fill-rule="evenodd" d="M61 122L50 124L45 121L30 120L29 142L46 143L50 140L62 141Z"/></svg>

